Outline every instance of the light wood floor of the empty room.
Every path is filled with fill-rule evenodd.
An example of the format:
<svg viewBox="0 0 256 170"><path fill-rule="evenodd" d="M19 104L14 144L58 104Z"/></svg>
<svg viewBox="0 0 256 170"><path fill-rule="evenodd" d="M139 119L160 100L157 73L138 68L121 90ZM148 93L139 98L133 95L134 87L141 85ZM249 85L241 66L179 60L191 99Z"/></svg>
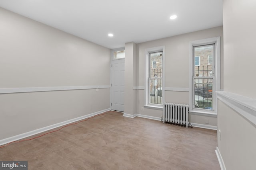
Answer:
<svg viewBox="0 0 256 170"><path fill-rule="evenodd" d="M110 111L10 144L0 149L0 160L28 160L29 170L220 170L214 149L214 130Z"/></svg>

